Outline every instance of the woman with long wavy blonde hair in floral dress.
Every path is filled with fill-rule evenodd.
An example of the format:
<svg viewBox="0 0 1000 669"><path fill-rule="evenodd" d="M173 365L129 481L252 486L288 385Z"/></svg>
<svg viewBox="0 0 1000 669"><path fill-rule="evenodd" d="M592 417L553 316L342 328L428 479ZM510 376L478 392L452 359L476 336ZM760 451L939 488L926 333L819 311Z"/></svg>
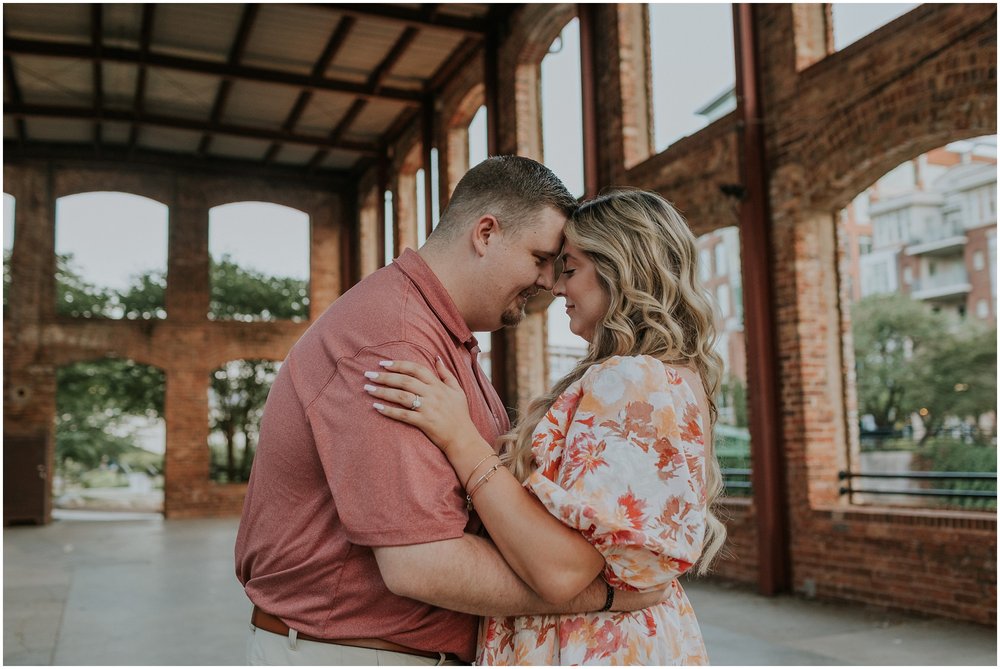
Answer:
<svg viewBox="0 0 1000 669"><path fill-rule="evenodd" d="M567 601L598 574L608 584L599 612L487 618L479 663L706 664L676 580L696 563L704 573L725 540L711 512L722 489L710 437L721 360L694 236L655 193L617 191L581 205L563 251L553 293L590 345L502 438L502 456L440 360L436 374L385 361L380 385L365 390L444 452L470 508L539 595ZM662 589L656 606L609 612L616 590Z"/></svg>

